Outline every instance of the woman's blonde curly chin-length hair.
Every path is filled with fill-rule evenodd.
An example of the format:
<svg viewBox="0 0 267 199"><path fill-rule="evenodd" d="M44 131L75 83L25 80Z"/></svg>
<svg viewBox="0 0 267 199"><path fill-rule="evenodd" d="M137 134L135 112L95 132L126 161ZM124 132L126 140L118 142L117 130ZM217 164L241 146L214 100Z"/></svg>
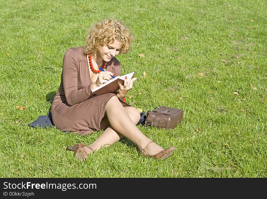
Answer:
<svg viewBox="0 0 267 199"><path fill-rule="evenodd" d="M121 54L130 51L130 44L133 41L129 29L122 21L107 19L91 27L86 35L86 45L83 51L86 55L95 55L100 45L113 44L115 40L121 42Z"/></svg>

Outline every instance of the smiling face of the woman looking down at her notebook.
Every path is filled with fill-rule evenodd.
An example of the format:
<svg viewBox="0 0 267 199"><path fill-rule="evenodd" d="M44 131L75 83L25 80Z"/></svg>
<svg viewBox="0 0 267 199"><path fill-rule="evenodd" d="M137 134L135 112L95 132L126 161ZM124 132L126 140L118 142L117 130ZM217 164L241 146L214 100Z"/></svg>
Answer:
<svg viewBox="0 0 267 199"><path fill-rule="evenodd" d="M100 45L96 52L96 55L102 57L104 61L108 62L120 53L120 48L120 41L115 40L113 44L103 46Z"/></svg>

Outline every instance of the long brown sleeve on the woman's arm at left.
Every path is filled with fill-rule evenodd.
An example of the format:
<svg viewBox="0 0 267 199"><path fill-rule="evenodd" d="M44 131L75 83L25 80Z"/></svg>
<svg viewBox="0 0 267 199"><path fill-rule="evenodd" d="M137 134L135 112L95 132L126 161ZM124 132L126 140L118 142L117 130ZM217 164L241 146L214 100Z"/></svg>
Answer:
<svg viewBox="0 0 267 199"><path fill-rule="evenodd" d="M70 106L88 99L92 93L90 86L78 90L78 65L72 49L63 58L62 78L66 101Z"/></svg>

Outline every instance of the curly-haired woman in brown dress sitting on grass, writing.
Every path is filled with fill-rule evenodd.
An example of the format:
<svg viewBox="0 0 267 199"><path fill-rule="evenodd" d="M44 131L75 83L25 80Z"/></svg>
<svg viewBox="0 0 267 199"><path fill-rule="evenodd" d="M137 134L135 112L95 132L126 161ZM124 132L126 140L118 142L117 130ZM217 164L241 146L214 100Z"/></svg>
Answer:
<svg viewBox="0 0 267 199"><path fill-rule="evenodd" d="M121 74L115 56L127 53L132 41L132 35L121 21L105 20L90 29L86 46L70 48L64 55L61 83L51 107L54 125L82 135L104 129L89 146L79 143L67 148L80 161L123 137L148 157L164 159L174 152L174 147L164 150L136 127L140 112L123 99L137 78L125 79L117 93L92 95L92 89Z"/></svg>

